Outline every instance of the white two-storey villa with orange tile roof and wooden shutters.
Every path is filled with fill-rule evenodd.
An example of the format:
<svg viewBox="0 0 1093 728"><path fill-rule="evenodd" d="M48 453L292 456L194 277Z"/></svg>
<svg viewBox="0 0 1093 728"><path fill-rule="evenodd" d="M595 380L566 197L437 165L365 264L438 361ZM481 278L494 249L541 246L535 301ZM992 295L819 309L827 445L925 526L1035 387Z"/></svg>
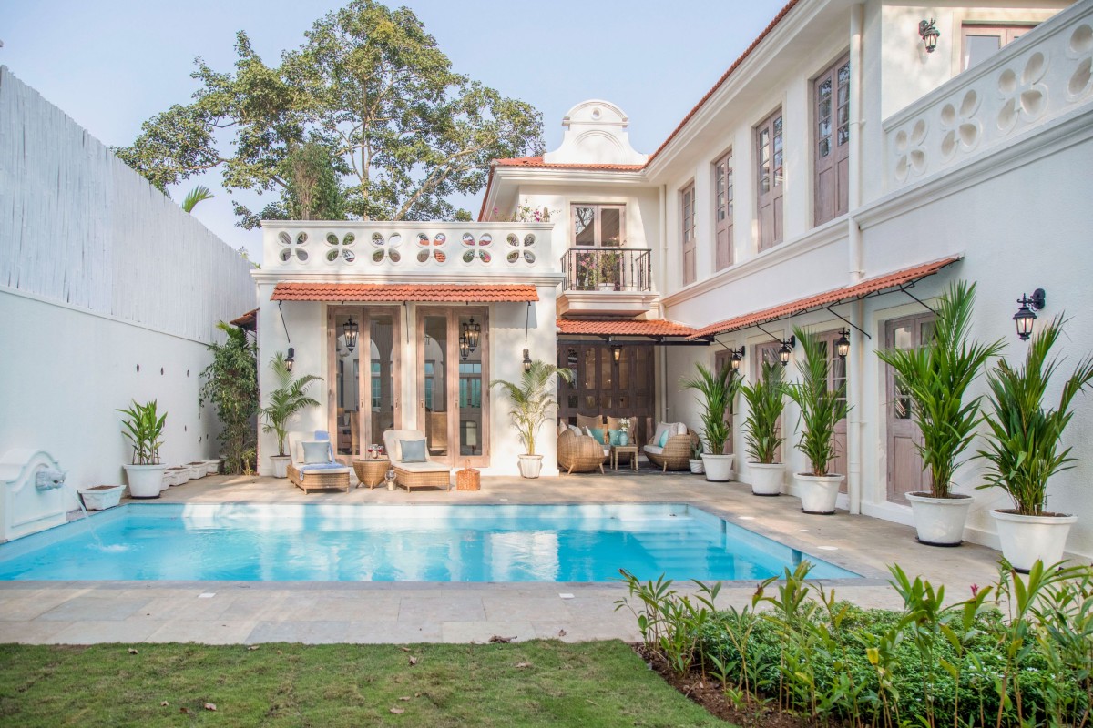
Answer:
<svg viewBox="0 0 1093 728"><path fill-rule="evenodd" d="M526 357L576 371L562 418L636 417L644 438L646 418L697 427L678 386L695 362L737 355L753 378L784 344L791 363L802 325L847 383L841 505L909 523L904 493L924 476L877 348L916 345L931 299L963 278L978 284L975 335L1006 337L1009 358L1035 289L1041 315L1071 317L1069 358L1093 349L1091 63L1088 0L794 0L651 154L631 146L622 109L587 100L559 148L495 162L478 223L267 223L261 361L291 351L330 383L303 429L336 433L343 458L415 428L432 460L501 475L520 447L489 382L517 379ZM549 222L522 222L533 211ZM787 473L804 466L796 419L788 407ZM1069 437L1080 462L1050 506L1082 516L1069 548L1088 556L1090 403ZM956 490L977 474L963 467ZM976 499L965 536L997 545L987 513L1002 496Z"/></svg>

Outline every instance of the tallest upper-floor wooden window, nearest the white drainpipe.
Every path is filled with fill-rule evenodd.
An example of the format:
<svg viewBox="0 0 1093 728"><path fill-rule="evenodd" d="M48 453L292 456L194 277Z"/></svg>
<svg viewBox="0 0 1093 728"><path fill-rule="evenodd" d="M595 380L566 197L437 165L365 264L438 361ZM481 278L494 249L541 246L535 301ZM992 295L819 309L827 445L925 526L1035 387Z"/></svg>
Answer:
<svg viewBox="0 0 1093 728"><path fill-rule="evenodd" d="M814 207L816 225L848 211L847 183L850 166L850 57L816 76L812 83L815 127L813 147Z"/></svg>

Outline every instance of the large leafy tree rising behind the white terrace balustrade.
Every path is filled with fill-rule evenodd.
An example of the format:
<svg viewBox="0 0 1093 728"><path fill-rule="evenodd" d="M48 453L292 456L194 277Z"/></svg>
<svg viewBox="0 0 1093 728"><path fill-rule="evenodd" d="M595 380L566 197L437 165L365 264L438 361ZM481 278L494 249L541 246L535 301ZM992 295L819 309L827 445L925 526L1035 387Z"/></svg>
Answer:
<svg viewBox="0 0 1093 728"><path fill-rule="evenodd" d="M407 8L352 0L316 21L277 68L236 35L234 72L197 59L192 102L117 150L160 189L220 168L231 190L278 200L265 218L463 217L446 198L485 186L490 160L539 154L542 116L455 73Z"/></svg>

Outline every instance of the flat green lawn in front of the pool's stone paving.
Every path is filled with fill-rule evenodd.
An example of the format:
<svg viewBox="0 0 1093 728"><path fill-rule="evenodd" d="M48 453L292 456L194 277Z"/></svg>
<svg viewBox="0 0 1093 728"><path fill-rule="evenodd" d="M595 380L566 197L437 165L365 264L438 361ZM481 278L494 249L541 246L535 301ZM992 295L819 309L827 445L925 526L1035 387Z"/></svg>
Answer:
<svg viewBox="0 0 1093 728"><path fill-rule="evenodd" d="M0 726L727 725L621 642L133 646L0 645Z"/></svg>

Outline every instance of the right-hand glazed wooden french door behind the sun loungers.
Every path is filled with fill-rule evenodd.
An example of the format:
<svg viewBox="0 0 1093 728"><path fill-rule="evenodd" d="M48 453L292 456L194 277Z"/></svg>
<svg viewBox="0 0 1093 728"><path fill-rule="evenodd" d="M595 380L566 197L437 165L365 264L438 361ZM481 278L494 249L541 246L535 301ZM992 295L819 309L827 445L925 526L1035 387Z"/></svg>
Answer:
<svg viewBox="0 0 1093 728"><path fill-rule="evenodd" d="M419 308L416 330L418 429L428 458L489 466L489 310Z"/></svg>

